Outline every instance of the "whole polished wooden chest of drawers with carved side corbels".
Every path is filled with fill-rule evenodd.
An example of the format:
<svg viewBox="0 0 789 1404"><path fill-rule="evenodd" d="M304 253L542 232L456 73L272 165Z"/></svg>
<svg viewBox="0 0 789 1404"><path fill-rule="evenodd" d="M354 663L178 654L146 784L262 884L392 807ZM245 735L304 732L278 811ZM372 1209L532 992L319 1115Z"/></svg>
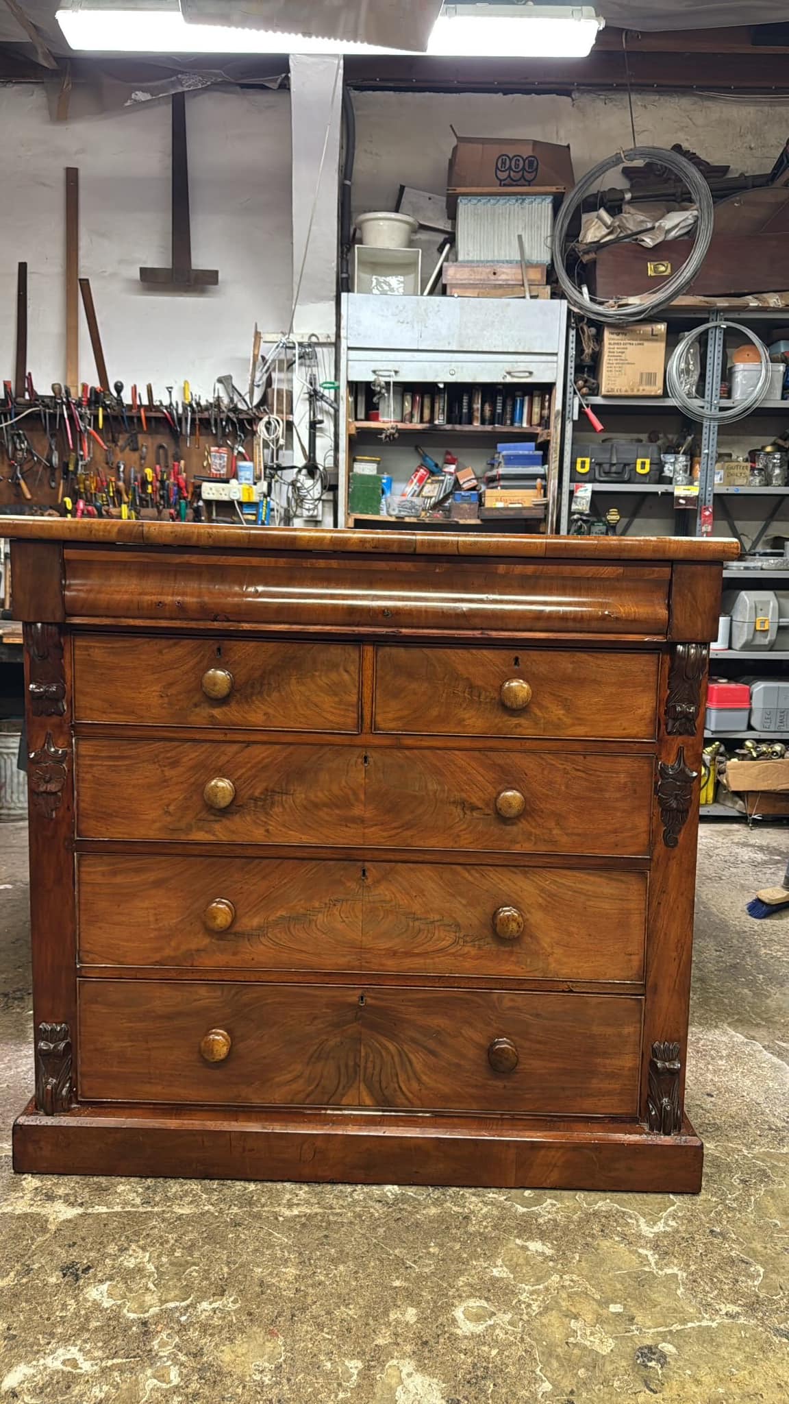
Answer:
<svg viewBox="0 0 789 1404"><path fill-rule="evenodd" d="M25 1171L692 1191L731 542L8 522Z"/></svg>

